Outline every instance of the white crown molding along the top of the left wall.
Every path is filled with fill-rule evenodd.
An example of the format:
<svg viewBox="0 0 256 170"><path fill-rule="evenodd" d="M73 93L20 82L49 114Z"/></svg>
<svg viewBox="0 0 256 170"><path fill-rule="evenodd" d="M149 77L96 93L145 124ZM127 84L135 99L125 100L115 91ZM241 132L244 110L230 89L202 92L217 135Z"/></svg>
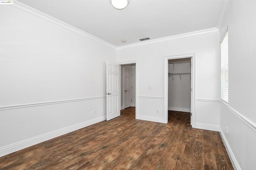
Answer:
<svg viewBox="0 0 256 170"><path fill-rule="evenodd" d="M23 10L25 12L28 12L28 13L34 15L34 16L42 18L44 20L50 21L50 22L52 22L54 24L57 24L57 25L59 25L61 27L65 27L65 28L67 28L67 29L69 29L71 31L79 33L80 35L83 35L83 36L85 36L87 38L90 38L90 39L92 39L94 41L98 41L99 43L102 43L102 44L107 45L109 47L112 47L114 49L117 48L115 45L113 45L111 43L108 43L107 41L104 41L104 40L102 40L102 39L100 39L100 38L98 38L98 37L96 37L94 35L91 35L91 34L85 32L85 31L82 31L81 29L78 29L78 28L76 28L76 27L74 27L74 26L72 26L72 25L70 25L68 23L65 23L65 22L63 22L61 20L58 20L58 19L52 17L52 16L49 16L48 14L45 14L45 13L40 12L40 11L30 7L30 6L27 6L27 5L25 5L25 4L21 3L21 2L18 2L17 0L15 0L14 4L12 6L15 7L15 8L18 8L19 10Z"/></svg>

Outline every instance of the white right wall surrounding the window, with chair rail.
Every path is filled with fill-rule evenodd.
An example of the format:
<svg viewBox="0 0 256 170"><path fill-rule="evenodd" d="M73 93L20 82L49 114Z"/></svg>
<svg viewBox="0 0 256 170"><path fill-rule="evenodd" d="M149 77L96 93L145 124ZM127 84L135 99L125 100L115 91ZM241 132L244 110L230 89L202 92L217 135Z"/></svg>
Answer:
<svg viewBox="0 0 256 170"><path fill-rule="evenodd" d="M220 25L221 39L226 25L229 103L221 103L220 129L235 168L250 170L256 167L256 1L230 1Z"/></svg>

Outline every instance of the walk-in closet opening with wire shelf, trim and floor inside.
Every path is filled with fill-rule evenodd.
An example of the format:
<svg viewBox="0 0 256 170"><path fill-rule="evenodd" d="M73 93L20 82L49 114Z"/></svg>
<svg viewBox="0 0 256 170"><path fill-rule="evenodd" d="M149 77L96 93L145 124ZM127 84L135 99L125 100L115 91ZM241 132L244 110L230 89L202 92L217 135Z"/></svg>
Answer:
<svg viewBox="0 0 256 170"><path fill-rule="evenodd" d="M182 123L192 125L193 56L166 57L165 106L167 109L167 122L182 121ZM182 119L176 119L177 117L182 117Z"/></svg>

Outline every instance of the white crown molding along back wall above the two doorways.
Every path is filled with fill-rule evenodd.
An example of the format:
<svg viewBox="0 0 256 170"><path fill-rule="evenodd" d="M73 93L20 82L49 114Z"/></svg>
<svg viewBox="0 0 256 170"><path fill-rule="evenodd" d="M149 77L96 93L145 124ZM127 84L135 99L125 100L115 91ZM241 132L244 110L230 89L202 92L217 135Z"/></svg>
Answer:
<svg viewBox="0 0 256 170"><path fill-rule="evenodd" d="M168 37L162 37L162 38L158 38L158 39L152 39L152 40L149 40L149 41L146 41L146 42L138 42L138 43L133 43L133 44L128 44L128 45L122 45L122 46L117 47L117 49L124 49L124 48L128 48L128 47L136 47L136 46L140 46L140 45L158 43L158 42L162 42L162 41L168 41L168 40L171 40L171 39L190 37L190 36L194 36L194 35L212 33L212 32L216 32L216 31L219 31L216 27L209 28L209 29L202 29L202 30L199 30L199 31L193 31L193 32L188 32L188 33L171 35L171 36L168 36Z"/></svg>

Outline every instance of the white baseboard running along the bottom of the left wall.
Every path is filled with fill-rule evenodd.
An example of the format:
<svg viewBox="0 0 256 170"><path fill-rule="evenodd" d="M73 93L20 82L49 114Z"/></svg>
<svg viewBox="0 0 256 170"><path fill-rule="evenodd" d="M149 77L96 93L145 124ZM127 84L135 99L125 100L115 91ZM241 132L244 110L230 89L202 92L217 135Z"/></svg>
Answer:
<svg viewBox="0 0 256 170"><path fill-rule="evenodd" d="M38 143L47 141L49 139L53 139L55 137L59 137L59 136L64 135L66 133L76 131L78 129L93 125L95 123L98 123L98 122L101 122L101 121L104 121L104 120L106 120L106 115L104 115L102 117L97 117L97 118L89 120L89 121L78 123L76 125L65 127L65 128L62 128L62 129L59 129L59 130L56 130L56 131L52 131L52 132L46 133L44 135L40 135L40 136L37 136L37 137L26 139L24 141L20 141L20 142L11 144L11 145L0 147L0 156L4 156L4 155L10 154L12 152L16 152L18 150L30 147L32 145L36 145Z"/></svg>

